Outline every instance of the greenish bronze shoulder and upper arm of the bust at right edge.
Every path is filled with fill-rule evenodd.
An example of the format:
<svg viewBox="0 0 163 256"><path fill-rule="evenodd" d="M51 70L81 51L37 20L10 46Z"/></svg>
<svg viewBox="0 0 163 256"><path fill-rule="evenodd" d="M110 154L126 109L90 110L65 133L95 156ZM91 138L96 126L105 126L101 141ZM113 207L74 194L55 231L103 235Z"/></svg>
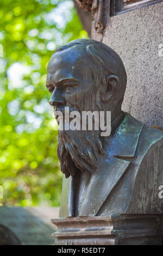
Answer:
<svg viewBox="0 0 163 256"><path fill-rule="evenodd" d="M144 126L137 148L139 167L127 214L161 214L163 200L159 186L163 185L163 131Z"/></svg>

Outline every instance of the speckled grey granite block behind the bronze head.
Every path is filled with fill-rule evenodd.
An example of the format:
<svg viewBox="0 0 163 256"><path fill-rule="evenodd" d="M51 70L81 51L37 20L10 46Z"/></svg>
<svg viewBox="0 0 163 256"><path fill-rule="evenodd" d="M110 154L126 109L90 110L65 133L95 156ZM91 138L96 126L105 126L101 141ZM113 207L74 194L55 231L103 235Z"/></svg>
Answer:
<svg viewBox="0 0 163 256"><path fill-rule="evenodd" d="M127 89L123 111L147 125L163 127L162 39L163 3L108 17L103 41L123 60ZM92 39L101 40L92 24Z"/></svg>

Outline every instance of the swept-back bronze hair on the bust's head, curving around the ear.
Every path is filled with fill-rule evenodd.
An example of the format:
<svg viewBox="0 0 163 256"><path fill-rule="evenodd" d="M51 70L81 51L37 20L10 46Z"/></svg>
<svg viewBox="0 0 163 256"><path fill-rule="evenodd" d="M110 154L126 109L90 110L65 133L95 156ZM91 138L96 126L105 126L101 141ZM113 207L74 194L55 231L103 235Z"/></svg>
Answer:
<svg viewBox="0 0 163 256"><path fill-rule="evenodd" d="M107 86L105 80L106 76L118 76L119 82L117 86L115 100L117 100L118 104L122 105L124 93L126 90L127 75L120 56L118 56L118 54L109 46L103 44L102 42L98 42L92 39L73 40L63 46L58 47L57 50L55 50L55 52L63 51L67 48L73 48L75 46L85 47L87 56L89 56L89 58L92 60L92 71L94 76L93 78L96 80L95 87L98 86L99 88L100 84L101 95L103 94L104 89ZM98 88L94 89L97 91Z"/></svg>

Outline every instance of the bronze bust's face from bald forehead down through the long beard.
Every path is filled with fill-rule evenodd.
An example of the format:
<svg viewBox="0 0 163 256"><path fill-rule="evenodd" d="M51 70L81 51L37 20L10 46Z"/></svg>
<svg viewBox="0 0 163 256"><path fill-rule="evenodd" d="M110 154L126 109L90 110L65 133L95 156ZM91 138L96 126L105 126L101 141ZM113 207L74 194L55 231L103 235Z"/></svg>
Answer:
<svg viewBox="0 0 163 256"><path fill-rule="evenodd" d="M47 68L46 87L52 94L49 103L55 111L64 114L65 107L80 113L96 110L94 83L92 63L85 48L74 46L53 54ZM95 172L99 157L104 154L99 133L58 130L57 153L66 178L80 171Z"/></svg>

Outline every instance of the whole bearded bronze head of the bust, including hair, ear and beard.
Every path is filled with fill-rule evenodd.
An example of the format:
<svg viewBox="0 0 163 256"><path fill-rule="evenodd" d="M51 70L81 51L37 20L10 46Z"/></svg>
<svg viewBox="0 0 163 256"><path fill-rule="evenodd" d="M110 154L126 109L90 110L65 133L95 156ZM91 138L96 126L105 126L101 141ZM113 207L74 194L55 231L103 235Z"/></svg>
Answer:
<svg viewBox="0 0 163 256"><path fill-rule="evenodd" d="M57 48L47 68L49 100L55 111L111 111L121 113L127 75L123 62L109 46L96 40L78 39ZM58 158L66 178L79 171L96 172L105 155L100 130L58 131Z"/></svg>

